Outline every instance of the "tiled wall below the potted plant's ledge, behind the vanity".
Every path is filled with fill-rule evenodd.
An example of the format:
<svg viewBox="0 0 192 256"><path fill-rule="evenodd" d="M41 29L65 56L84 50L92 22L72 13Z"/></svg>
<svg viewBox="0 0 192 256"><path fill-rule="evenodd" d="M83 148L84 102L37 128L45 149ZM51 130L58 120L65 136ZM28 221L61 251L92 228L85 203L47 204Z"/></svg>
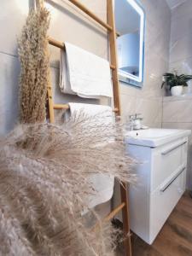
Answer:
<svg viewBox="0 0 192 256"><path fill-rule="evenodd" d="M192 95L168 96L163 101L163 128L192 130ZM187 187L192 188L192 137L189 137Z"/></svg>

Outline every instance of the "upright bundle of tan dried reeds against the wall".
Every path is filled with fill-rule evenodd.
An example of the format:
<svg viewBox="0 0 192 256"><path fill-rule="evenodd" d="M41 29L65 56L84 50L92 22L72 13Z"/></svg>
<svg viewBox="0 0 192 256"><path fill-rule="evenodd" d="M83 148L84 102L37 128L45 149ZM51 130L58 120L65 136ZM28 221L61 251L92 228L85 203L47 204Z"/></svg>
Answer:
<svg viewBox="0 0 192 256"><path fill-rule="evenodd" d="M47 31L49 12L43 7L31 10L19 39L20 121L43 122L49 82Z"/></svg>

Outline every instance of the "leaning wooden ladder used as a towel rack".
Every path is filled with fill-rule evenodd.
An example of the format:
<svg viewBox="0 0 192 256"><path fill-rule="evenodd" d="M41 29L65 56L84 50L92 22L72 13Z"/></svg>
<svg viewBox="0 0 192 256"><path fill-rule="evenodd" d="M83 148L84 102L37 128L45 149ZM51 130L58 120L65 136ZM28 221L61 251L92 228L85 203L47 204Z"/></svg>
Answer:
<svg viewBox="0 0 192 256"><path fill-rule="evenodd" d="M108 23L102 21L99 17L97 17L90 9L87 9L82 3L79 3L77 0L68 0L73 3L77 8L82 10L86 15L89 15L93 20L95 20L98 24L103 26L108 30L108 39L110 46L110 61L111 61L111 70L112 70L112 80L113 80L113 104L114 104L114 112L117 115L121 114L120 108L120 96L119 96L119 77L118 77L118 61L117 61L117 47L116 47L116 38L118 33L115 31L115 23L114 23L114 14L113 14L113 0L107 0L107 15L108 15ZM38 4L44 3L44 0L38 0ZM60 49L65 49L65 44L56 41L53 38L49 38L49 44L54 45ZM55 122L55 114L54 109L68 109L69 106L67 104L55 104L53 102L53 93L52 93L52 85L49 81L48 84L48 102L49 102L49 120L50 123ZM127 185L124 183L120 185L120 194L121 194L121 204L119 207L113 209L112 212L108 214L105 221L109 221L112 219L119 211L122 210L123 217L123 229L125 233L125 255L131 256L131 233L130 233L130 224L129 224L129 206L128 206L128 195L127 195Z"/></svg>

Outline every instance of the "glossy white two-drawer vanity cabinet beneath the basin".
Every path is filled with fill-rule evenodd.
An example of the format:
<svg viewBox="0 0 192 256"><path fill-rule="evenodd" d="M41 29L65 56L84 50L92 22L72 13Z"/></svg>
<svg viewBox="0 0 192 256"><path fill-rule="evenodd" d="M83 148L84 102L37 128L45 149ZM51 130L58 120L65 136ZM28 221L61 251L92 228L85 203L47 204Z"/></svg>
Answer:
<svg viewBox="0 0 192 256"><path fill-rule="evenodd" d="M157 147L128 140L127 150L140 163L129 189L131 230L151 244L185 190L188 137Z"/></svg>

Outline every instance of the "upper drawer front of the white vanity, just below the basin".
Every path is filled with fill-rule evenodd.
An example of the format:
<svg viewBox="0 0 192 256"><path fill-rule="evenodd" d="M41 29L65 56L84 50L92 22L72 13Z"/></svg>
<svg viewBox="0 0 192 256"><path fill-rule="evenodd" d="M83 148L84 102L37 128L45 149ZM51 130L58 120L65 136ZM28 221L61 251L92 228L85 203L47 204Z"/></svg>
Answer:
<svg viewBox="0 0 192 256"><path fill-rule="evenodd" d="M185 164L184 148L186 147L187 138L153 149L150 192L170 177L172 172L176 172L179 166Z"/></svg>

